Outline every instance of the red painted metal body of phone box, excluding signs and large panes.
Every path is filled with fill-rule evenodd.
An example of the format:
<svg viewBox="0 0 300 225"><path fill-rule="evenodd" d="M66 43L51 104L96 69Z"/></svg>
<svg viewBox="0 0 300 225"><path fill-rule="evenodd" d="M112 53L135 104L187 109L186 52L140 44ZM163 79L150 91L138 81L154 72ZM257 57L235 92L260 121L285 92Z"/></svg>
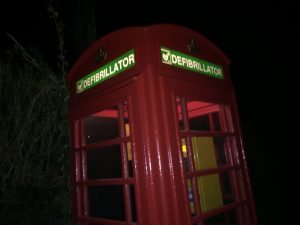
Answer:
<svg viewBox="0 0 300 225"><path fill-rule="evenodd" d="M192 38L198 42L200 53L188 51L187 44ZM223 66L224 79L215 79L162 64L161 46ZM97 64L95 58L100 48L106 50L107 58L101 64ZM80 78L130 49L135 51L134 67L83 93L76 94L76 82ZM139 225L193 225L195 223L200 225L203 224L203 218L233 208L240 209L239 217L243 225L257 224L234 89L229 77L229 63L228 58L206 38L192 30L175 25L154 25L118 30L99 39L84 52L68 75L71 93L69 119L73 224L132 224L128 220L130 218L128 190L124 196L127 220L120 222L86 216L88 209L85 207L87 205L85 187L101 184L120 184L125 189L128 188L128 184L134 185ZM232 152L232 157L239 164L190 174L184 173L181 137L189 137L191 133L179 131L176 96L193 97L200 101L230 106L229 124L232 124L234 132L215 133L235 138L236 148ZM124 99L129 101L134 176L132 178L123 176L122 179L105 181L86 180L84 177L86 161L84 154L80 152L115 142L125 143L128 137L120 135L120 138L115 140L86 146L80 121L87 115L120 104ZM124 129L123 124L120 127ZM122 133L124 131L121 131ZM205 135L205 133L200 133L199 135ZM123 151L123 171L126 170L124 154ZM228 204L221 210L200 213L201 218L192 218L188 206L186 177L224 171L240 171L234 177L235 186L239 187L237 194L240 196L239 201Z"/></svg>

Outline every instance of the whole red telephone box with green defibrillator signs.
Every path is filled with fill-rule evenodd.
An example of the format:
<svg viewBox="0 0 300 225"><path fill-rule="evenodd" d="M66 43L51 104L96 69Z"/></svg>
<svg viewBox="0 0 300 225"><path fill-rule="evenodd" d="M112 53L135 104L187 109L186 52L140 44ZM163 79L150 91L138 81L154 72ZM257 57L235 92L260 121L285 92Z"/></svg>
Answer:
<svg viewBox="0 0 300 225"><path fill-rule="evenodd" d="M229 59L175 25L130 27L71 69L76 225L256 225Z"/></svg>

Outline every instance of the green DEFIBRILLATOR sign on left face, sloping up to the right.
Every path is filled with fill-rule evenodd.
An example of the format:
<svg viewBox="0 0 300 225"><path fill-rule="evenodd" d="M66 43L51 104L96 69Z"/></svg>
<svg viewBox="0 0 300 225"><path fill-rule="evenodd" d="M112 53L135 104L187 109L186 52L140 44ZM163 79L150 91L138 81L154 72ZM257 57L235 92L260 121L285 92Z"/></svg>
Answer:
<svg viewBox="0 0 300 225"><path fill-rule="evenodd" d="M76 83L76 93L86 91L97 84L133 67L135 65L134 50L126 52L106 65L84 76Z"/></svg>

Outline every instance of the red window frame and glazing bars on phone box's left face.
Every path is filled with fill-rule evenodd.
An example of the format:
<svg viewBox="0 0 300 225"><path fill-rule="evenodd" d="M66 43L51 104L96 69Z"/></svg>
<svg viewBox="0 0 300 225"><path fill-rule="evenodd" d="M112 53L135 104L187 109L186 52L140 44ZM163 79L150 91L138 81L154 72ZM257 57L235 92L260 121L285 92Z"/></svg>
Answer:
<svg viewBox="0 0 300 225"><path fill-rule="evenodd" d="M130 90L128 90L128 87L126 87L126 89L124 90L127 94L130 94ZM130 101L129 98L125 98L125 97L117 97L116 96L120 96L120 91L116 92L114 95L110 96L110 99L108 101L102 101L102 104L96 104L96 105L91 105L90 102L83 102L83 103L79 103L78 106L81 108L84 107L84 110L82 110L81 112L78 112L78 114L75 114L72 120L74 121L80 121L81 118L84 118L85 116L95 112L95 111L100 111L106 107L110 107L112 105L118 105L119 107L119 115L123 115L122 112L122 105L120 102L124 102L124 101ZM106 96L95 96L96 98L106 98ZM95 98L94 97L94 98ZM115 99L114 99L115 98ZM113 100L114 99L114 100ZM92 99L92 101L95 101L94 99ZM129 105L130 106L130 105ZM130 111L132 111L131 107ZM90 112L90 113L89 113ZM129 113L130 115L130 113ZM129 118L130 120L131 118ZM75 124L77 124L78 122L75 122ZM100 224L111 224L111 225L117 225L117 224L132 224L130 218L130 200L129 200L129 185L135 185L135 180L132 177L129 177L128 174L125 172L127 171L127 161L125 161L126 156L125 156L125 143L130 141L132 142L133 139L131 137L125 137L125 131L124 131L124 121L121 119L120 120L120 124L119 127L121 128L120 130L120 138L114 138L114 139L110 139L110 140L105 140L102 142L98 142L98 143L92 143L92 144L87 144L85 142L85 130L82 129L83 126L83 122L80 123L80 125L77 127L77 129L74 129L75 132L75 136L77 136L78 139L80 139L81 141L80 144L77 144L78 146L75 147L75 149L72 149L71 151L71 155L72 155L72 159L75 160L75 165L74 163L73 168L76 171L77 175L73 174L73 179L72 179L72 183L73 185L75 185L76 187L79 187L80 189L80 193L76 193L76 191L74 191L74 195L73 195L73 199L74 199L74 213L76 213L76 217L74 218L74 224L78 224L77 221L82 221L84 224L85 223L100 223ZM79 132L81 131L81 132ZM80 133L79 135L76 133ZM87 165L86 165L86 151L88 150L93 150L96 148L100 148L100 147L105 147L105 146L110 146L110 145L114 145L114 144L120 144L121 147L121 158L122 160L122 178L114 178L114 179L96 179L96 180L89 180L86 176L86 169L87 169ZM75 145L76 146L76 145ZM80 157L80 159L76 160L76 155L77 154L77 158ZM136 169L134 169L134 171L137 171ZM135 172L133 172L135 173ZM107 220L107 219L96 219L96 218L91 218L88 216L88 197L87 197L87 186L99 186L99 185L122 185L124 187L124 202L125 202L125 212L126 212L126 221L124 222L118 222L118 221L111 221L111 220ZM135 185L136 186L136 185ZM81 197L79 197L81 196ZM79 207L79 208L78 208ZM81 211L81 212L80 212ZM77 220L77 221L76 221Z"/></svg>

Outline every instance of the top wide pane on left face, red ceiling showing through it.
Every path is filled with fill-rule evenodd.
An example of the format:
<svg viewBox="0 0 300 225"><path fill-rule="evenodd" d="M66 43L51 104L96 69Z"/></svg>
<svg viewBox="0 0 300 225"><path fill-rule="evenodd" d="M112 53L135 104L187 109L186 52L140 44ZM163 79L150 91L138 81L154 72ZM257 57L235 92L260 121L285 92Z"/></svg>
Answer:
<svg viewBox="0 0 300 225"><path fill-rule="evenodd" d="M95 142L119 137L118 108L112 107L83 119L85 126L86 143Z"/></svg>

